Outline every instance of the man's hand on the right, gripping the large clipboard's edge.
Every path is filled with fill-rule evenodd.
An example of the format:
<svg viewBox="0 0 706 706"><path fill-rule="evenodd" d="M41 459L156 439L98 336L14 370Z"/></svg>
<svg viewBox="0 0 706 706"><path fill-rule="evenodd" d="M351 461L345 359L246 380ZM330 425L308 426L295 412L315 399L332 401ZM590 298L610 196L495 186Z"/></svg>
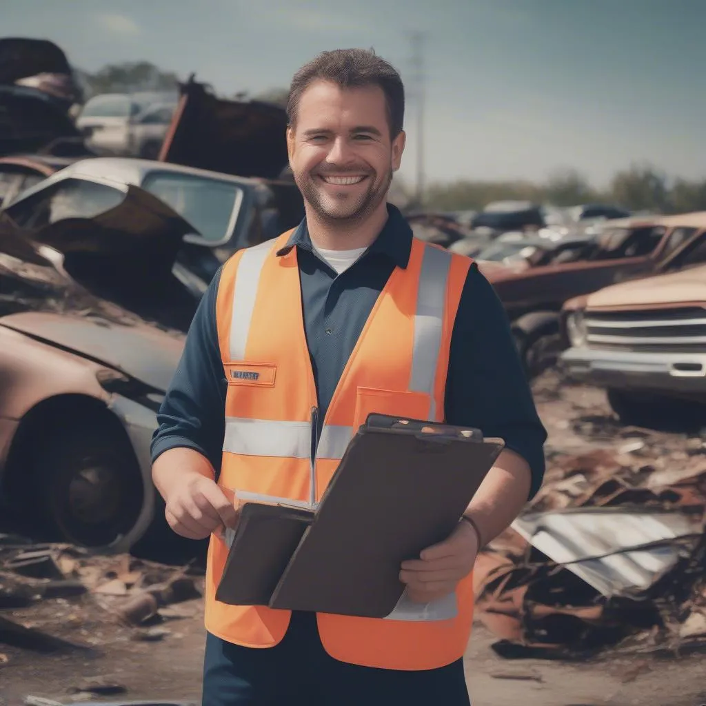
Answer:
<svg viewBox="0 0 706 706"><path fill-rule="evenodd" d="M478 535L461 521L450 537L421 552L419 559L402 562L400 580L414 603L429 603L456 589L472 570L478 554Z"/></svg>

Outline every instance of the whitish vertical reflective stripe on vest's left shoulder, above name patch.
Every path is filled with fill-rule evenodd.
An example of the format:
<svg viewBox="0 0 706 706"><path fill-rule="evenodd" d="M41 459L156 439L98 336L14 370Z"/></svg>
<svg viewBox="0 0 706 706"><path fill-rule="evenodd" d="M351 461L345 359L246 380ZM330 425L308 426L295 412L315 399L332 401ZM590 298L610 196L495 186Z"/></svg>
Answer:
<svg viewBox="0 0 706 706"><path fill-rule="evenodd" d="M230 321L230 359L245 360L245 347L250 333L250 322L255 311L260 273L265 258L273 249L275 241L268 240L246 249L238 263L233 292L233 315Z"/></svg>

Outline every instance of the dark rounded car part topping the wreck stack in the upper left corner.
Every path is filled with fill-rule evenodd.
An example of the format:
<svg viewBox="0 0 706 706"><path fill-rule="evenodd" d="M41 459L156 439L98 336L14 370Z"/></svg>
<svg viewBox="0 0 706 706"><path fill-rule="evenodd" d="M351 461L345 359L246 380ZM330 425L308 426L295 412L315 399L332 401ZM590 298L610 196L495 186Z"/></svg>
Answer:
<svg viewBox="0 0 706 706"><path fill-rule="evenodd" d="M37 73L71 73L66 54L49 40L0 39L0 84L15 83Z"/></svg>

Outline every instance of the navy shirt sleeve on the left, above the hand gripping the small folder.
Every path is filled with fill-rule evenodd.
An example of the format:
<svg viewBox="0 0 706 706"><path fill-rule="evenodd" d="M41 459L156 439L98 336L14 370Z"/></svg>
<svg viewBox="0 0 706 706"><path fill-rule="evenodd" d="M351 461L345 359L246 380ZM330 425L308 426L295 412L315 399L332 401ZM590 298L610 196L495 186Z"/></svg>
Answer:
<svg viewBox="0 0 706 706"><path fill-rule="evenodd" d="M216 295L220 270L203 295L152 436L152 462L170 448L202 453L220 473L227 383L218 348Z"/></svg>

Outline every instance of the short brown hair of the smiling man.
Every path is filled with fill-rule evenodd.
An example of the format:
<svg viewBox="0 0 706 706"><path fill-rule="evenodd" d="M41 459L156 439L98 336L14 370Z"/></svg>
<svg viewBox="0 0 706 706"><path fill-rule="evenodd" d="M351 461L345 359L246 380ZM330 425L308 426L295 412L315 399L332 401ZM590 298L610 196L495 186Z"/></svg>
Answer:
<svg viewBox="0 0 706 706"><path fill-rule="evenodd" d="M314 81L325 80L340 88L361 88L379 86L385 94L388 108L390 136L402 132L405 120L405 86L395 68L385 59L377 56L372 49L335 49L321 52L315 59L304 64L292 78L287 100L287 117L294 125L297 119L299 100L304 91Z"/></svg>

